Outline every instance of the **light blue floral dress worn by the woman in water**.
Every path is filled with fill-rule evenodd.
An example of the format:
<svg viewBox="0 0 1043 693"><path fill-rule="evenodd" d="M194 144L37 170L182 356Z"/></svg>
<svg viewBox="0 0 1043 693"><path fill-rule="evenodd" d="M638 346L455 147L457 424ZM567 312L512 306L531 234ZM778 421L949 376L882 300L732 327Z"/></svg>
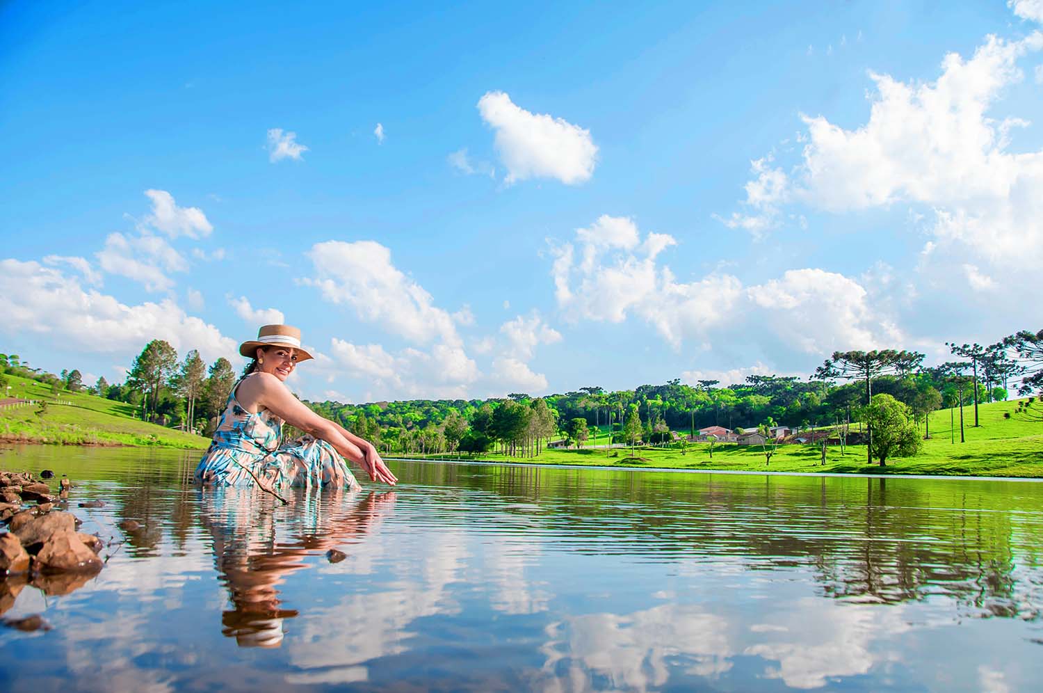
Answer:
<svg viewBox="0 0 1043 693"><path fill-rule="evenodd" d="M242 381L239 381L240 383ZM331 486L361 488L344 458L325 440L311 435L283 443L283 420L267 409L246 411L236 401L236 387L214 432L214 441L199 460L196 483L268 488ZM339 483L338 483L339 481Z"/></svg>

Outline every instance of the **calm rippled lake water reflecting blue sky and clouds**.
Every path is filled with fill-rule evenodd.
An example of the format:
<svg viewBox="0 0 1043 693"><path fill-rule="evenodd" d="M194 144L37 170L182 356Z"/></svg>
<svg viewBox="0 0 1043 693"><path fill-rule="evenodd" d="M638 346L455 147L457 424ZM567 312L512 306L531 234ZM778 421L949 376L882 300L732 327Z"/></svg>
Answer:
<svg viewBox="0 0 1043 693"><path fill-rule="evenodd" d="M1043 484L398 462L276 507L196 456L0 453L126 539L18 595L53 629L0 689L1040 689Z"/></svg>

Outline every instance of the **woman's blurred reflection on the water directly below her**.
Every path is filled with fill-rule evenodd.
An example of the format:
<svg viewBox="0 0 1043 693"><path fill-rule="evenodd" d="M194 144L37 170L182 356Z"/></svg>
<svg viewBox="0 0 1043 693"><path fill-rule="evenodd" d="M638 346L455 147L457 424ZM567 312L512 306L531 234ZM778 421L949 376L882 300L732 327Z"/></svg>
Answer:
<svg viewBox="0 0 1043 693"><path fill-rule="evenodd" d="M252 488L201 492L201 519L214 537L215 566L228 588L233 608L221 615L222 632L240 647L278 647L284 619L296 610L281 608L284 578L307 568L305 558L333 548L344 550L372 529L394 505L394 492L300 489L290 505L274 507Z"/></svg>

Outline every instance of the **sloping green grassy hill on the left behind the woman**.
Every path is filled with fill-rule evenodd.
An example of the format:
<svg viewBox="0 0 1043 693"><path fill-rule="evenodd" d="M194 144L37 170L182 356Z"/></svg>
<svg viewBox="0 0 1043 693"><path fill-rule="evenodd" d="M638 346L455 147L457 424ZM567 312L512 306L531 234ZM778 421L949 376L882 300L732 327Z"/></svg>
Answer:
<svg viewBox="0 0 1043 693"><path fill-rule="evenodd" d="M208 438L177 431L135 417L135 409L86 392L62 392L27 378L5 376L10 385L5 397L46 402L39 405L0 409L0 440L53 445L161 446L198 449Z"/></svg>

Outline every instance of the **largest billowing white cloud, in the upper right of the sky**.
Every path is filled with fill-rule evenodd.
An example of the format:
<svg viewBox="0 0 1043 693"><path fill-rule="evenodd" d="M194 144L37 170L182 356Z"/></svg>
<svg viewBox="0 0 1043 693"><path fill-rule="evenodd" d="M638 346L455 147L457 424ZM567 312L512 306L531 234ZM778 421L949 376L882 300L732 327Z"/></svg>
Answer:
<svg viewBox="0 0 1043 693"><path fill-rule="evenodd" d="M1012 6L1038 19L1043 3ZM786 204L835 213L911 205L933 216L927 231L946 246L997 264L1043 260L1043 150L1011 151L1011 133L1028 123L989 115L1024 78L1019 58L1041 48L1039 31L988 37L970 58L946 55L935 81L870 73L868 121L845 129L804 116L800 162L789 174L771 158L754 162L747 209L722 221L757 236L777 225Z"/></svg>

